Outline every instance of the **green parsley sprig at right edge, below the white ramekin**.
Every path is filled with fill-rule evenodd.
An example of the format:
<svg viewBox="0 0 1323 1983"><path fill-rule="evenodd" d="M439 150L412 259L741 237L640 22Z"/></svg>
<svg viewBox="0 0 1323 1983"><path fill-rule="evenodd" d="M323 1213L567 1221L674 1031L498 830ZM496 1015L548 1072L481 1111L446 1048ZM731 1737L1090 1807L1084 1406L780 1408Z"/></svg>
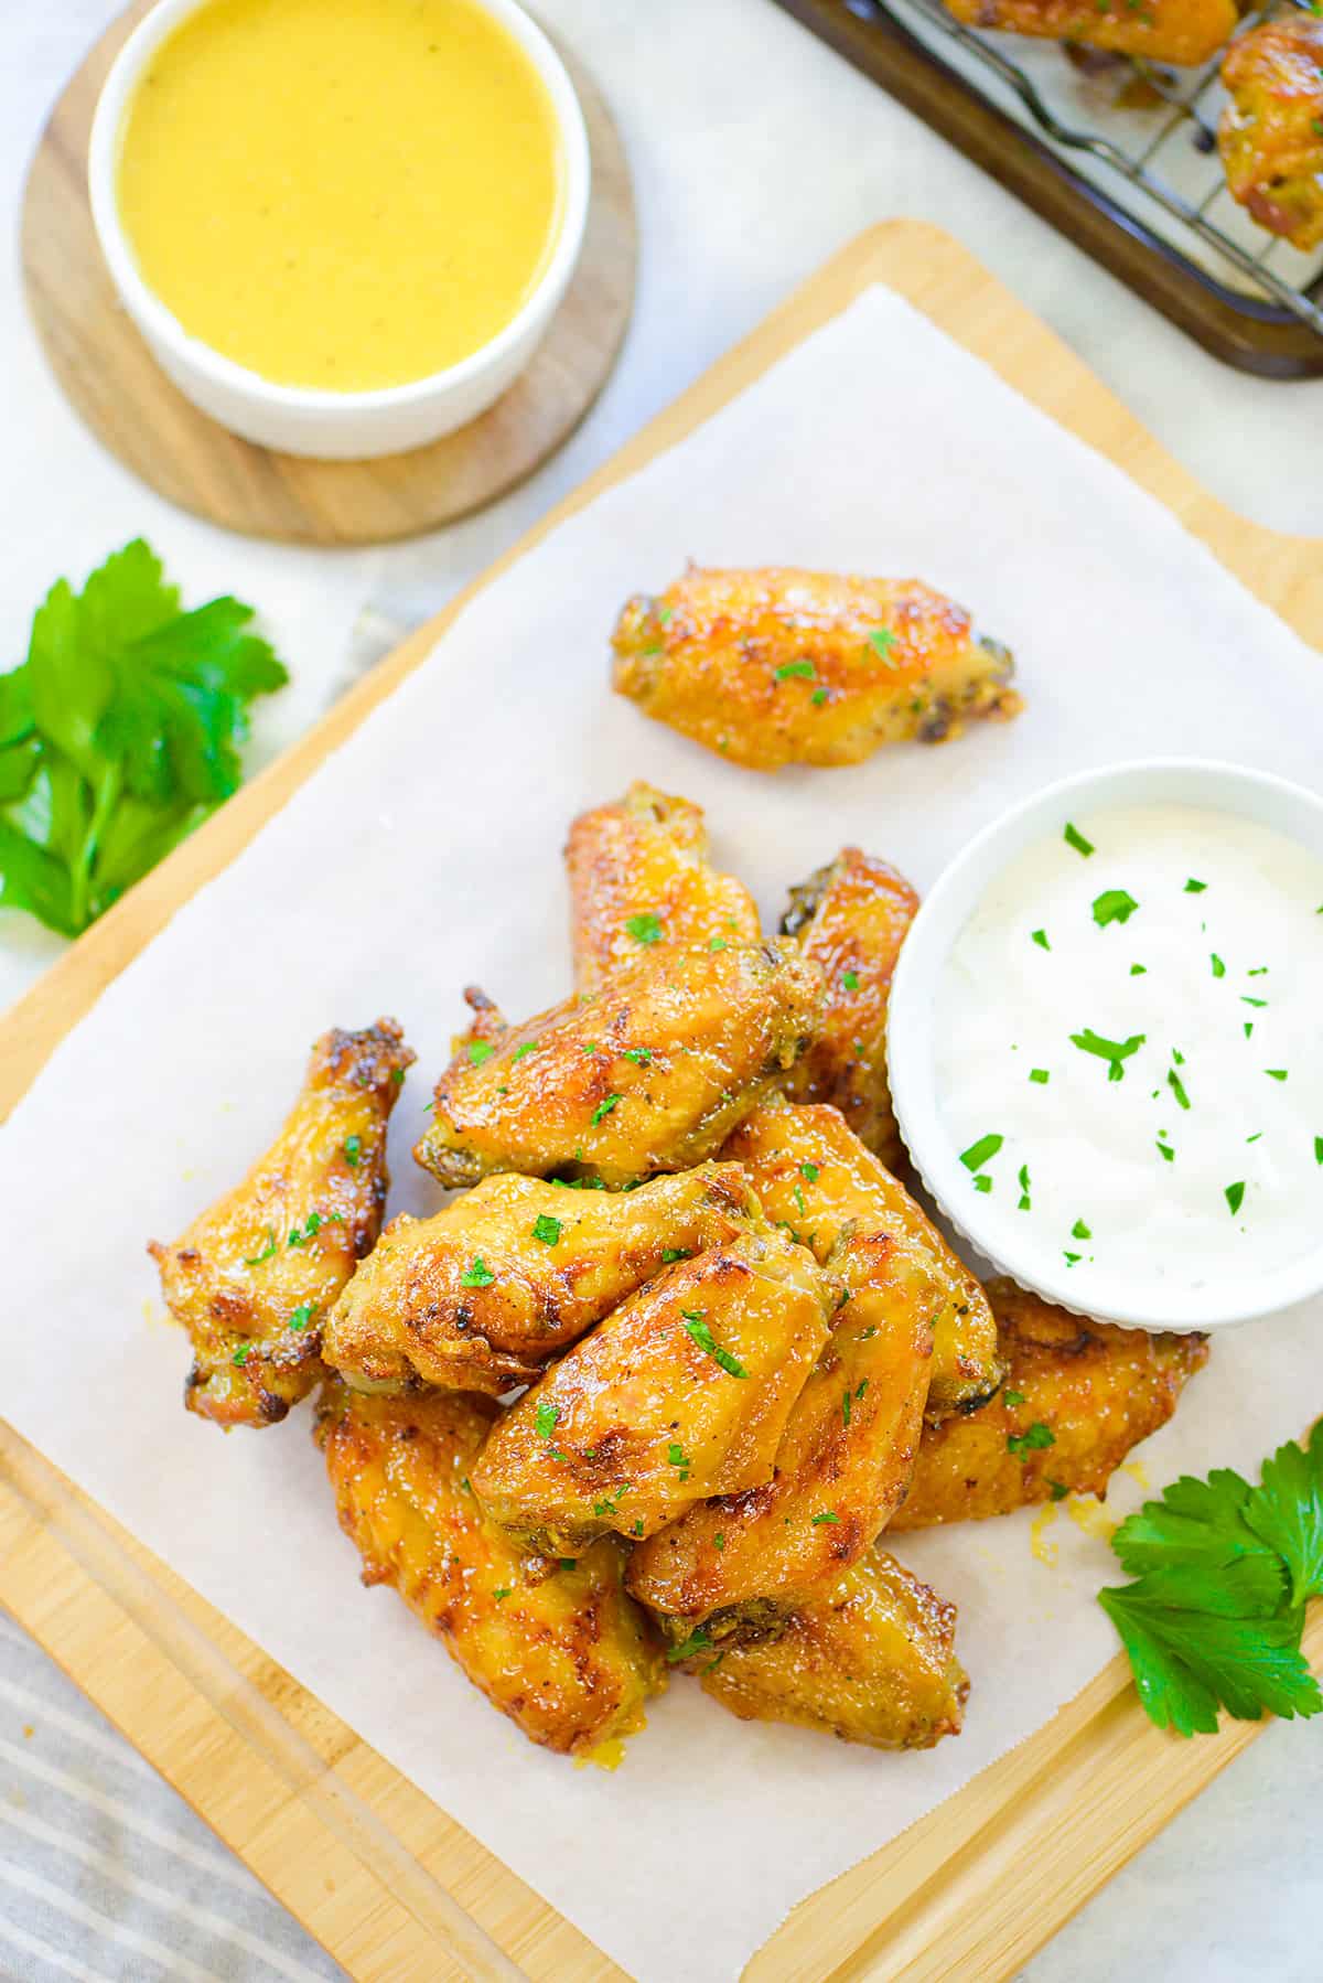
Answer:
<svg viewBox="0 0 1323 1983"><path fill-rule="evenodd" d="M1323 1713L1301 1654L1305 1600L1323 1594L1323 1422L1263 1461L1260 1485L1220 1467L1121 1523L1131 1584L1099 1590L1144 1711L1212 1735L1218 1709L1258 1721Z"/></svg>

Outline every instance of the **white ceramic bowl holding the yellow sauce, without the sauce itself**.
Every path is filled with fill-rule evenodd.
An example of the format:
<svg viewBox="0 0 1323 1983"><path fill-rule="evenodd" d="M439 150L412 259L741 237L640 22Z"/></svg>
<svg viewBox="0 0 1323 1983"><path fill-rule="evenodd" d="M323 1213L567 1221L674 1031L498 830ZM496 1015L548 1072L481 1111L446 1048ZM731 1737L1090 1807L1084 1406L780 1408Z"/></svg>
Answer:
<svg viewBox="0 0 1323 1983"><path fill-rule="evenodd" d="M532 359L569 286L589 200L587 129L565 65L514 0L480 0L524 48L551 97L565 161L561 230L541 276L520 313L490 343L446 371L371 393L323 393L272 385L184 331L143 282L119 218L115 180L125 109L145 63L173 30L206 0L161 0L135 28L105 79L91 125L87 186L101 254L125 309L157 363L194 407L212 420L286 454L321 460L363 460L421 448L464 426L514 385Z"/></svg>

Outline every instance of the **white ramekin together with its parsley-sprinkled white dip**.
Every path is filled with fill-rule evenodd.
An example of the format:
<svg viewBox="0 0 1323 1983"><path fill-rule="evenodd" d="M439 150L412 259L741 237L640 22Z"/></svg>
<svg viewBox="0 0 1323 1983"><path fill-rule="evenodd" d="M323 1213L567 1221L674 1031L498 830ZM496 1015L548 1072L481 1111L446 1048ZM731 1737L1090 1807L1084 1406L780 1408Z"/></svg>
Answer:
<svg viewBox="0 0 1323 1983"><path fill-rule="evenodd" d="M891 1093L946 1218L1139 1329L1323 1289L1323 799L1230 763L1063 779L901 952Z"/></svg>

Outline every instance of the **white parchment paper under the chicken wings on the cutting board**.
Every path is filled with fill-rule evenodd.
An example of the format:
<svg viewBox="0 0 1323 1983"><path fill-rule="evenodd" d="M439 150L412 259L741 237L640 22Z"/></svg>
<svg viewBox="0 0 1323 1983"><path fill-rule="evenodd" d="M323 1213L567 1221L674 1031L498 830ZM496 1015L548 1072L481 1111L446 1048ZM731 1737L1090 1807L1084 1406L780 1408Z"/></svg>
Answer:
<svg viewBox="0 0 1323 1983"><path fill-rule="evenodd" d="M758 777L607 692L627 593L684 557L916 573L1014 644L1025 714L942 750ZM682 446L565 524L186 908L61 1045L4 1130L0 1408L421 1789L647 1983L734 1977L782 1916L1045 1721L1115 1650L1115 1578L1059 1509L904 1537L960 1606L964 1735L883 1757L748 1727L678 1682L615 1775L532 1749L387 1592L357 1586L307 1414L222 1438L153 1327L169 1239L274 1134L331 1021L405 1021L393 1206L480 982L567 990L559 847L631 777L708 807L774 918L845 841L922 888L1035 785L1121 756L1238 758L1317 783L1323 664L1119 470L875 290ZM1319 1097L1323 1126L1323 1097ZM1254 1467L1323 1402L1323 1305L1224 1333L1152 1485ZM1113 1513L1141 1497L1113 1489ZM1039 1517L1041 1521L1041 1517ZM1043 1561L1053 1557L1055 1561Z"/></svg>

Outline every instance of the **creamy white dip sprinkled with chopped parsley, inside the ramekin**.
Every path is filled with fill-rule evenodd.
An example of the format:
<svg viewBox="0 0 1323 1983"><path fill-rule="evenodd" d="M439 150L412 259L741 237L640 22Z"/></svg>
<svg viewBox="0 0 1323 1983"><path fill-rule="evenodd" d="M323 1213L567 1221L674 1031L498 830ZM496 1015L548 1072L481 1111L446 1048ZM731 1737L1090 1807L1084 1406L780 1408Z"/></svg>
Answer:
<svg viewBox="0 0 1323 1983"><path fill-rule="evenodd" d="M956 938L936 1039L988 1243L1031 1235L1081 1307L1319 1245L1323 861L1285 835L1188 805L1063 821Z"/></svg>

